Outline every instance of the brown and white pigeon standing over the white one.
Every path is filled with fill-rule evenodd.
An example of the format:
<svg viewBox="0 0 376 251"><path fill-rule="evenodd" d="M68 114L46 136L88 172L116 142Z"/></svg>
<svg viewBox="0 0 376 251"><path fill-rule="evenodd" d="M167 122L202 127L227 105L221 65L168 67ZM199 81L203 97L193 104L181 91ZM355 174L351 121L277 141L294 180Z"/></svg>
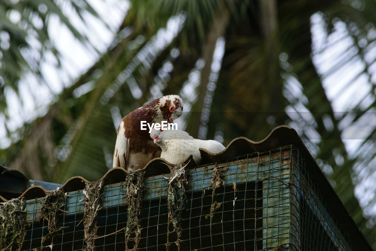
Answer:
<svg viewBox="0 0 376 251"><path fill-rule="evenodd" d="M141 130L141 121L152 125L162 121L172 123L182 115L183 101L178 95L157 98L124 116L117 129L112 167L128 171L142 169L161 154L161 149L150 139L149 128Z"/></svg>

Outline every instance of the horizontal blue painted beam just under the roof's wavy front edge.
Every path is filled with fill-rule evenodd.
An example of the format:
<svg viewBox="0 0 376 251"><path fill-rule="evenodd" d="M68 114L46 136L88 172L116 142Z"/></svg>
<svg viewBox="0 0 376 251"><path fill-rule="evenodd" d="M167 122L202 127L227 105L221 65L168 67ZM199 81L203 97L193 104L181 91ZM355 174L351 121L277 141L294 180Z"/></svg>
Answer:
<svg viewBox="0 0 376 251"><path fill-rule="evenodd" d="M280 169L279 159L270 161L270 166L264 165L262 167L258 167L258 161L247 163L247 160L249 160L247 156L241 156L234 161L229 161L226 164L217 165L217 167L227 166L228 168L224 177L225 185L232 185L233 182L235 182L236 184L244 184L245 182L252 182L256 181L257 179L264 180L268 178L269 172L273 170L279 172ZM194 192L202 191L204 188L210 189L209 186L211 184L212 170L215 167L215 165L206 165L188 170L189 184L187 190ZM287 171L289 168L285 169ZM238 172L238 170L240 170L241 172ZM144 191L144 200L156 199L160 196L167 196L168 177L169 174L162 174L145 178L144 182L146 185L146 190ZM286 176L284 179L288 182L288 176ZM111 208L125 204L125 195L126 190L123 182L105 185L102 188L102 207ZM83 197L84 196L82 190L67 193L65 211L68 211L68 213L65 213L65 216L83 213L83 206L85 205L85 202L79 202L83 199ZM40 219L40 217L33 214L33 211L38 211L40 209L40 202L42 199L43 198L26 200L27 221Z"/></svg>

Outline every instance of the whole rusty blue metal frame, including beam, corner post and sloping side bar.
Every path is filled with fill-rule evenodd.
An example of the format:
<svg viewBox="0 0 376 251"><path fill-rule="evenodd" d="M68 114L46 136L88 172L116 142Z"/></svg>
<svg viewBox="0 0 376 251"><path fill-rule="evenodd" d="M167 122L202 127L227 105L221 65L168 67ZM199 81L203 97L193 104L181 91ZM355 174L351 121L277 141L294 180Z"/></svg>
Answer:
<svg viewBox="0 0 376 251"><path fill-rule="evenodd" d="M196 194L201 195L203 190L211 189L212 171L215 167L227 168L222 177L225 190L233 189L233 184L246 186L249 182L262 182L262 246L264 249L300 250L302 245L300 216L303 212L300 212L299 204L302 199L305 199L336 248L352 250L340 226L325 207L315 188L309 183L311 181L308 181L310 178L306 173L304 163L293 146L281 147L269 153L240 156L227 160L226 163L190 169L187 171L189 182L187 191L198 192ZM162 174L144 179L146 185L144 201L167 196L168 175ZM256 190L258 189L260 188L256 187ZM125 195L124 182L105 185L101 195L102 208L111 209L125 205ZM82 190L67 193L64 208L67 212L62 212L64 217L83 214L85 205L85 202L81 201L83 198ZM26 200L27 222L33 223L40 219L38 211L42 199ZM234 205L237 203L236 189L234 189L233 203Z"/></svg>

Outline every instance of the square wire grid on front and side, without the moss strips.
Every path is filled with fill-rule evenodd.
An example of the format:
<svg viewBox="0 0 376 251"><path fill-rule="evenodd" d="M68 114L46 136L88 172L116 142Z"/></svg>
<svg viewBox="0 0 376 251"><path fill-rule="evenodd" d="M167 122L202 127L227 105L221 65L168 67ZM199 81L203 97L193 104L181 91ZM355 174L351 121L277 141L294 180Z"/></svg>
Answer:
<svg viewBox="0 0 376 251"><path fill-rule="evenodd" d="M210 187L214 167L227 170L215 196ZM168 174L145 179L139 250L166 249L168 179L164 176ZM293 146L196 167L188 170L188 181L182 250L352 250ZM96 250L125 249L125 193L124 182L102 188ZM85 248L82 190L68 194L64 211L70 213L60 213L56 219L56 227L63 229L54 237L52 250ZM48 230L47 222L37 219L40 201L27 201L31 219L21 250L51 250L41 248ZM211 214L214 202L221 205ZM170 234L171 250L177 250L175 240L176 233ZM128 246L132 248L132 243Z"/></svg>

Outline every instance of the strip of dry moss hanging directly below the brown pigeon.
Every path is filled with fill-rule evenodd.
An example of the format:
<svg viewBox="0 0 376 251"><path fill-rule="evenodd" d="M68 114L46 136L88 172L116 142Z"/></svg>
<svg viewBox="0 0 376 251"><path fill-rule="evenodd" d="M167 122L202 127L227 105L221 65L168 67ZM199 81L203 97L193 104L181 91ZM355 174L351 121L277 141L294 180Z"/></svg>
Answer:
<svg viewBox="0 0 376 251"><path fill-rule="evenodd" d="M138 250L138 242L141 239L140 215L143 202L145 170L136 170L127 175L125 186L127 194L124 202L128 205L127 227L125 229L125 250ZM132 246L130 248L130 246Z"/></svg>

